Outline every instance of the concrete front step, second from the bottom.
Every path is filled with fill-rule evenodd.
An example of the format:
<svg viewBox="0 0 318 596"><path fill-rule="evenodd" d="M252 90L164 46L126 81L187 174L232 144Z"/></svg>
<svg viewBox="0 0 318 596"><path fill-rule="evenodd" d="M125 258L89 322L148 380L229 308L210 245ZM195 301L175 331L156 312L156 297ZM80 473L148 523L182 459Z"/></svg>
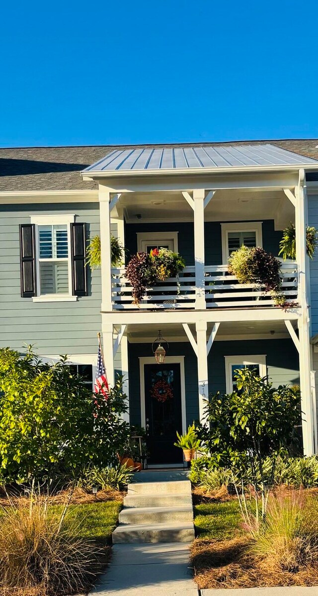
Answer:
<svg viewBox="0 0 318 596"><path fill-rule="evenodd" d="M129 507L119 513L119 523L193 523L192 504L183 507Z"/></svg>

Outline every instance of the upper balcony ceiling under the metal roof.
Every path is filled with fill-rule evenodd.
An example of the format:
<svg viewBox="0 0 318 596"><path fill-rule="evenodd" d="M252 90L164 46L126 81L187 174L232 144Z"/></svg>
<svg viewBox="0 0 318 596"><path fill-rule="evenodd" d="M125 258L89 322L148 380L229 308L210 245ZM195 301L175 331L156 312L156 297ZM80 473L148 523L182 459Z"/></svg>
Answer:
<svg viewBox="0 0 318 596"><path fill-rule="evenodd" d="M120 205L129 223L193 221L193 210L180 191L123 193ZM248 213L248 216L247 216ZM284 191L218 190L204 212L206 221L294 220L294 207Z"/></svg>

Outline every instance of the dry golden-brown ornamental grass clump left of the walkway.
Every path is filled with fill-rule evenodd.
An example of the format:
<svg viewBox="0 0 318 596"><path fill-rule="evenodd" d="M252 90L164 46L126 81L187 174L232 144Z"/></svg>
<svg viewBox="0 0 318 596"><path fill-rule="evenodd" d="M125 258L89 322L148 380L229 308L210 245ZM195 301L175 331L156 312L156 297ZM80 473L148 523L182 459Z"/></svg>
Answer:
<svg viewBox="0 0 318 596"><path fill-rule="evenodd" d="M100 550L80 538L80 520L65 507L34 495L0 517L0 592L62 596L86 590L98 569Z"/></svg>

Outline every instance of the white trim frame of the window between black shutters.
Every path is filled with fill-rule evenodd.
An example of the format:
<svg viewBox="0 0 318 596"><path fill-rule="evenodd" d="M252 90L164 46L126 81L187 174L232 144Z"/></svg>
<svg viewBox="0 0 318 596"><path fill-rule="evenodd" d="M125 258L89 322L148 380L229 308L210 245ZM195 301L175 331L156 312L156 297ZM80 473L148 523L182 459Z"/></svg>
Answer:
<svg viewBox="0 0 318 596"><path fill-rule="evenodd" d="M39 261L39 225L67 225L68 248L71 247L71 224L74 224L75 215L30 215L31 224L36 225L36 293L33 302L77 302L77 296L72 294L72 263L68 256L68 294L40 294L40 261Z"/></svg>

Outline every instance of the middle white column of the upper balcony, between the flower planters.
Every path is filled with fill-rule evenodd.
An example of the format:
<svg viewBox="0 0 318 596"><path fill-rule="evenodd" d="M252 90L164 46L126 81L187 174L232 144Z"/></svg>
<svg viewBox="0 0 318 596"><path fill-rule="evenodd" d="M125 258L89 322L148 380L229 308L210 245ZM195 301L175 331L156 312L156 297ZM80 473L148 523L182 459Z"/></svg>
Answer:
<svg viewBox="0 0 318 596"><path fill-rule="evenodd" d="M204 189L193 191L194 265L196 268L196 309L206 308L204 287Z"/></svg>

